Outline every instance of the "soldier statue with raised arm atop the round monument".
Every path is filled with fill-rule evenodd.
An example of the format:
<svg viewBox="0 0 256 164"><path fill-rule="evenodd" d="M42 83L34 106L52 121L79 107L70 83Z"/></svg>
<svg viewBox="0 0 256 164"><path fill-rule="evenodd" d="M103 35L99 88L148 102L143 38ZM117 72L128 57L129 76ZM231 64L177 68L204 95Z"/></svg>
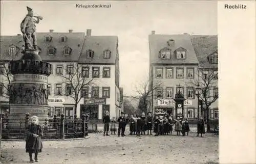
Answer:
<svg viewBox="0 0 256 164"><path fill-rule="evenodd" d="M34 49L38 50L36 43L36 26L35 23L39 23L39 20L42 20L41 16L34 16L33 10L27 7L28 14L23 19L22 23L20 23L20 31L22 31L24 42L25 42L25 50ZM37 18L34 19L33 17ZM31 43L32 40L32 43Z"/></svg>

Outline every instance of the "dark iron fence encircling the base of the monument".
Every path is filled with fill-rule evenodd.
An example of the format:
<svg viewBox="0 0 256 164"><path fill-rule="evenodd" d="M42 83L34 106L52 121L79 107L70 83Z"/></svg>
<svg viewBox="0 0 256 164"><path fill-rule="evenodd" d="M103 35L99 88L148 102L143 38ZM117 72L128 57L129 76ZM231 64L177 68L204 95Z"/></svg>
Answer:
<svg viewBox="0 0 256 164"><path fill-rule="evenodd" d="M83 138L90 131L97 131L98 119L90 119L83 115L81 119L65 119L62 114L60 118L46 118L39 120L44 136L42 139L67 139ZM27 126L30 124L30 115L26 114L24 119L8 119L2 115L0 126L2 139L22 139L27 137ZM0 136L0 140L1 140Z"/></svg>

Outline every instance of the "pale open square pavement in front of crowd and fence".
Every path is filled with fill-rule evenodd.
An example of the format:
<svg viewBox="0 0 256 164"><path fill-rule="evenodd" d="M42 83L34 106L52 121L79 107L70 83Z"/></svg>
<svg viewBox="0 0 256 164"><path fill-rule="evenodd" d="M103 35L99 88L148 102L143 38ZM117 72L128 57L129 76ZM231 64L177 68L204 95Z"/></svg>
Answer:
<svg viewBox="0 0 256 164"><path fill-rule="evenodd" d="M128 131L127 131L128 133ZM126 134L127 134L126 133ZM177 135L117 135L90 133L89 139L44 141L38 163L218 163L218 135L195 132ZM29 163L25 142L2 141L2 163Z"/></svg>

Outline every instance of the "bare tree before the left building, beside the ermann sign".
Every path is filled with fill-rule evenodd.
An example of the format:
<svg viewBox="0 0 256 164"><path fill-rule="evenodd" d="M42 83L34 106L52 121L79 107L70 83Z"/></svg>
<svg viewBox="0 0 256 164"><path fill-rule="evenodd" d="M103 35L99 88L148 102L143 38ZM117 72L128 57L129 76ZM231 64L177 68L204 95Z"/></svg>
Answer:
<svg viewBox="0 0 256 164"><path fill-rule="evenodd" d="M76 63L73 68L67 68L66 73L62 73L60 76L62 83L66 84L66 91L63 95L74 99L74 115L76 115L79 101L86 96L84 94L89 94L89 90L85 92L83 89L94 85L94 78L90 78L89 75L89 65L84 66Z"/></svg>

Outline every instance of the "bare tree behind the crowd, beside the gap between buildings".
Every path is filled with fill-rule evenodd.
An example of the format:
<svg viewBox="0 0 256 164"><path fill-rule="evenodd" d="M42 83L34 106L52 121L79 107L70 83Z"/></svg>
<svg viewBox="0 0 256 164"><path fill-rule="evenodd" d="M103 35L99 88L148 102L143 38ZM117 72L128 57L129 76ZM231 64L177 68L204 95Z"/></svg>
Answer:
<svg viewBox="0 0 256 164"><path fill-rule="evenodd" d="M142 112L147 112L147 105L150 102L150 98L153 95L154 91L161 86L161 82L156 82L155 85L152 85L152 78L148 77L145 81L142 81L135 87L136 96L127 96L139 101L138 108Z"/></svg>

